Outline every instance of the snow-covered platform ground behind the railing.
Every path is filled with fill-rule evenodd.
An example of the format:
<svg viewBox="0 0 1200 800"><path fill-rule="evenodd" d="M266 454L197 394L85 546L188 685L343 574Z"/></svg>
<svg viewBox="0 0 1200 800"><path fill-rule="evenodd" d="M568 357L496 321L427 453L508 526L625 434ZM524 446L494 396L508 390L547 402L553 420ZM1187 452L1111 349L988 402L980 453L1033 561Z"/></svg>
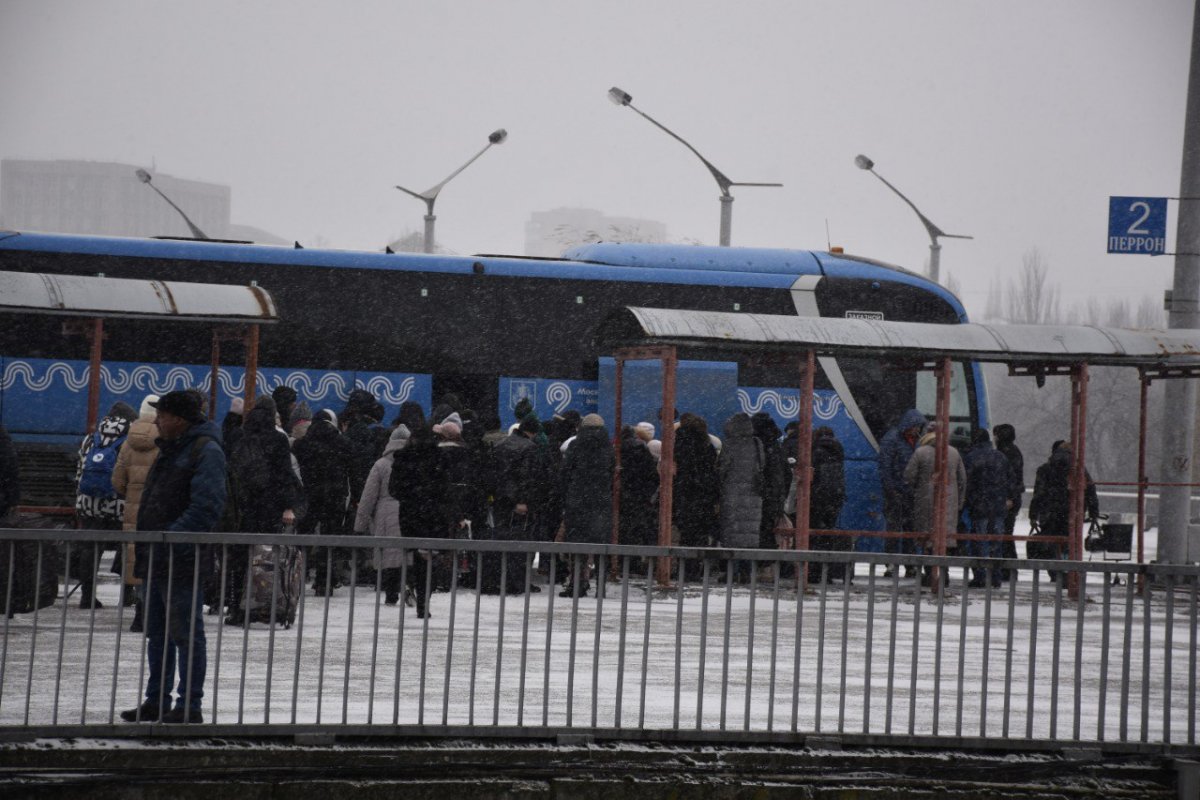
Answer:
<svg viewBox="0 0 1200 800"><path fill-rule="evenodd" d="M1164 593L1130 601L1126 587L1105 591L1098 577L1084 604L1066 593L1056 604L1044 575L1034 602L1027 571L1013 594L1006 584L989 601L972 589L964 603L961 575L953 578L943 604L920 595L919 613L913 581L900 581L893 599L878 570L871 593L862 566L848 595L840 583L815 587L797 603L794 584L784 582L755 595L714 585L706 600L700 585L680 597L647 595L643 581L631 581L610 583L602 601L581 599L574 615L571 599L548 587L504 599L436 594L428 620L383 606L371 588L353 599L338 589L328 604L310 590L302 627L274 636L264 625L244 631L205 618L204 714L220 723L1084 740L1118 739L1124 723L1130 740L1195 742L1190 588L1175 593L1169 614ZM125 630L132 609L118 625L115 583L102 583L100 597L106 608L94 626L91 612L66 608L62 637L61 600L37 614L36 637L32 614L8 620L0 726L107 723L114 709L139 702L144 640Z"/></svg>

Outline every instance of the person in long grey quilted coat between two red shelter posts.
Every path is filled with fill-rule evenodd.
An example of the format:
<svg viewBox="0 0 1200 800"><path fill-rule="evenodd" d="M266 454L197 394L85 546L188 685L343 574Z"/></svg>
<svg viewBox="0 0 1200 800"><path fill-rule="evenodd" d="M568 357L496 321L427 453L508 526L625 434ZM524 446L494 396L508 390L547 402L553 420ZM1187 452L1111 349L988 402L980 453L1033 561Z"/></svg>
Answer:
<svg viewBox="0 0 1200 800"><path fill-rule="evenodd" d="M721 485L721 545L738 549L758 547L762 522L762 469L766 456L746 414L734 414L725 423L725 444L716 458ZM749 563L738 564L748 573Z"/></svg>

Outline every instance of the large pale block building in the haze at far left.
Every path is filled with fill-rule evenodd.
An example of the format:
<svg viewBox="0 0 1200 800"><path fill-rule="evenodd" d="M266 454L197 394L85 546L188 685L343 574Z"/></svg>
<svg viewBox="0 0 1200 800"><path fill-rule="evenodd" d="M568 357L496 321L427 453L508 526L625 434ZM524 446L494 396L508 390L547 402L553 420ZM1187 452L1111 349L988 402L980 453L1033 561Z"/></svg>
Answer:
<svg viewBox="0 0 1200 800"><path fill-rule="evenodd" d="M97 161L0 161L0 228L98 236L191 236L187 224L142 184L137 166ZM150 173L154 185L212 239L283 239L229 219L230 190Z"/></svg>

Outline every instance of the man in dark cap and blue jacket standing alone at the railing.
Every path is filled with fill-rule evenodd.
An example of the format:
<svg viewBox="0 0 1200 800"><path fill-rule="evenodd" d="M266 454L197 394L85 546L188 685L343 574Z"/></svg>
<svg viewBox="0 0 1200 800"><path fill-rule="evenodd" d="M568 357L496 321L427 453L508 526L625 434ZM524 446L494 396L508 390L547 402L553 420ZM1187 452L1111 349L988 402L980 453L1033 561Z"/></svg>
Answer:
<svg viewBox="0 0 1200 800"><path fill-rule="evenodd" d="M205 419L204 397L174 391L151 403L157 410L158 458L150 468L138 530L211 531L226 504L226 458L221 428ZM136 709L121 711L127 722L203 722L203 589L196 581L197 546L156 543L139 552L134 573L145 581L146 692ZM170 685L179 668L178 699Z"/></svg>

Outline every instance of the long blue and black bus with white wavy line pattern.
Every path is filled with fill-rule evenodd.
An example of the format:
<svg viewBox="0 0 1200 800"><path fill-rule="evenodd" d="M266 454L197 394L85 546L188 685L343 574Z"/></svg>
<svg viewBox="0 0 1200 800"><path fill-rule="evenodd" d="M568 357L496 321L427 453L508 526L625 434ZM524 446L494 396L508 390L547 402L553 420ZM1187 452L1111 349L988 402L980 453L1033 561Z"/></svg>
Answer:
<svg viewBox="0 0 1200 800"><path fill-rule="evenodd" d="M511 421L521 398L541 417L605 408L611 368L593 335L618 306L966 321L943 287L840 252L601 242L540 259L4 231L0 270L257 282L281 317L263 329L259 391L288 384L314 410L340 410L355 386L391 410L406 399L428 408L454 392L493 427ZM50 317L8 317L0 329L0 420L23 464L62 458L84 434L86 342L64 337L61 321ZM136 407L148 392L188 385L206 389L206 330L110 320L106 331L102 407L116 399ZM731 409L766 410L780 427L798 416L796 368L754 355L721 366L696 365L695 396L680 386L683 410L706 416L714 432ZM240 368L222 368L218 419L242 378ZM710 397L714 385L719 399ZM934 403L932 374L913 365L820 360L815 423L830 426L847 456L840 528L882 528L877 443L906 409L932 416ZM964 437L988 426L977 365L956 366L950 414ZM47 477L30 488L26 503L52 504L64 499L49 497L54 492L70 494L70 480Z"/></svg>

